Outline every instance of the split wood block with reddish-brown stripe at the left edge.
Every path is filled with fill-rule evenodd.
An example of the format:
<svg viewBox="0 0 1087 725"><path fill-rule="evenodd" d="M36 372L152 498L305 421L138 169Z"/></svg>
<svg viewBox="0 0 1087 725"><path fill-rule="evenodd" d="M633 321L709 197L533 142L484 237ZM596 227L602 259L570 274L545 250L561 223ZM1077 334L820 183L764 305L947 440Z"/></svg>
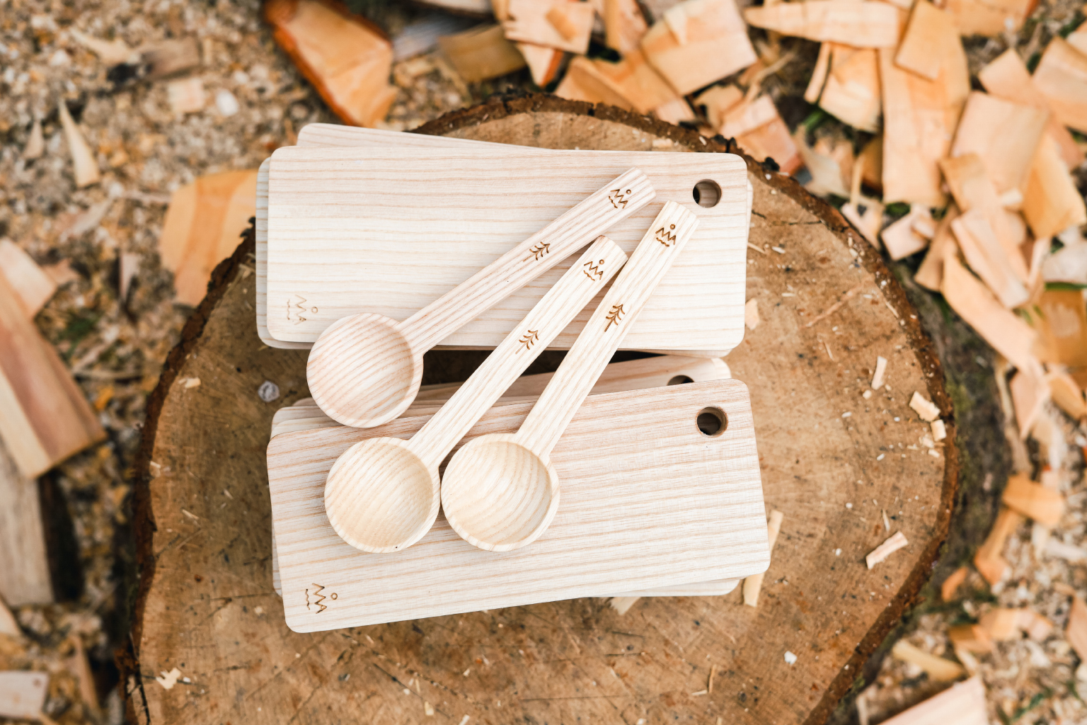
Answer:
<svg viewBox="0 0 1087 725"><path fill-rule="evenodd" d="M105 437L64 362L0 275L0 439L35 478Z"/></svg>

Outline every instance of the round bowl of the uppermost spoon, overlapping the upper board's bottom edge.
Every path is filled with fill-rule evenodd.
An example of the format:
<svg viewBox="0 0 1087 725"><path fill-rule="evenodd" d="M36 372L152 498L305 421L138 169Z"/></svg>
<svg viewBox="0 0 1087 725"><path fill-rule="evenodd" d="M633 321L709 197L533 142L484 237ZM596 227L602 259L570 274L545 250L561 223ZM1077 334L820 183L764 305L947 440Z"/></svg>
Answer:
<svg viewBox="0 0 1087 725"><path fill-rule="evenodd" d="M423 382L423 357L396 320L363 313L337 320L321 334L305 376L329 417L371 427L396 420L411 405Z"/></svg>

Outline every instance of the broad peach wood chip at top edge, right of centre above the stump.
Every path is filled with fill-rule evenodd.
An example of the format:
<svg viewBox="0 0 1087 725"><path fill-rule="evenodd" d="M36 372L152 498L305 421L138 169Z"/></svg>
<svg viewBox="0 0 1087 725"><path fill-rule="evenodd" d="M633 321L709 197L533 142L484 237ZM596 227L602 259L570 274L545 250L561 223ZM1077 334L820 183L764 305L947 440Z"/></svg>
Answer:
<svg viewBox="0 0 1087 725"><path fill-rule="evenodd" d="M758 60L733 0L685 0L673 5L642 37L641 50L684 96Z"/></svg>

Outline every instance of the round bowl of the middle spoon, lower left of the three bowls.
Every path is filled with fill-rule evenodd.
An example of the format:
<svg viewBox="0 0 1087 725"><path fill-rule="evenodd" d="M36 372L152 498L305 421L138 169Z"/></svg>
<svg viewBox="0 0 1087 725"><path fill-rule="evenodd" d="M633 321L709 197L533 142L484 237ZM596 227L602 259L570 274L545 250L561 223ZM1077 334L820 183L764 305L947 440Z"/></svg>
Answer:
<svg viewBox="0 0 1087 725"><path fill-rule="evenodd" d="M418 541L438 515L438 471L400 438L371 438L347 449L328 472L325 511L340 538L371 553Z"/></svg>

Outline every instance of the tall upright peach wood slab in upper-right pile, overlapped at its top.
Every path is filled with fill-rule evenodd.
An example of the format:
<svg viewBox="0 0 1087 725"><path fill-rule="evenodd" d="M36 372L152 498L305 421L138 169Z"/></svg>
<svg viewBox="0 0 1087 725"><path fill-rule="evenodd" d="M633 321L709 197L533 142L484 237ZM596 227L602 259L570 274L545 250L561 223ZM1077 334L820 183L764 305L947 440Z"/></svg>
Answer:
<svg viewBox="0 0 1087 725"><path fill-rule="evenodd" d="M898 12L897 10L895 12ZM940 74L929 80L895 64L895 50L879 50L884 109L884 202L907 201L942 207L937 163L948 155L951 139L970 93L970 73L962 42L942 11Z"/></svg>

